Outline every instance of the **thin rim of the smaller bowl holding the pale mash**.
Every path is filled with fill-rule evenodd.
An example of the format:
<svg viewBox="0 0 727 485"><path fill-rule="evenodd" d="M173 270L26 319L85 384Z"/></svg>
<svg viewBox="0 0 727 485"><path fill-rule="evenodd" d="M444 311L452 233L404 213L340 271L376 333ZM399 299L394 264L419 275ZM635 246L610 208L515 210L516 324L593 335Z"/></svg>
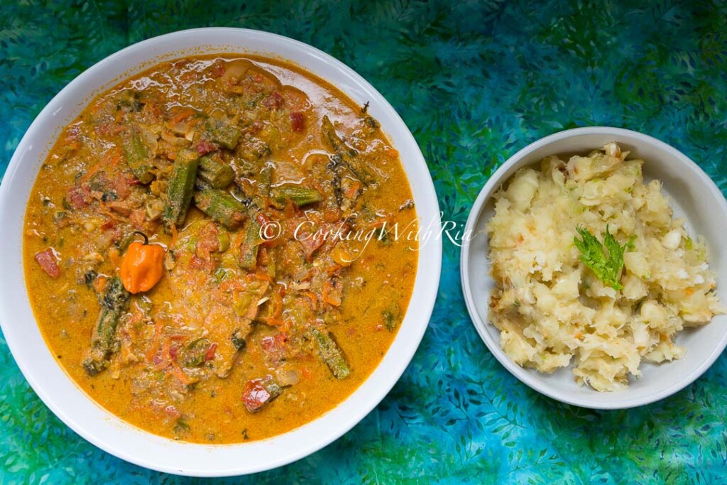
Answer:
<svg viewBox="0 0 727 485"><path fill-rule="evenodd" d="M631 129L606 126L580 127L566 129L561 132L555 132L552 135L542 137L539 140L530 143L525 148L522 148L509 159L507 159L507 161L505 161L505 163L502 164L494 172L494 174L489 177L486 184L478 194L477 199L475 199L475 203L473 204L472 209L470 209L470 215L467 217L467 223L465 224L465 233L473 233L475 226L477 225L478 220L481 216L481 213L483 212L483 209L486 207L486 204L489 202L491 197L494 195L495 189L499 188L502 183L507 182L507 180L512 177L512 175L510 175L507 180L504 179L505 175L507 175L507 172L512 169L512 167L520 163L520 161L526 156L529 156L534 151L539 150L539 148L543 148L556 141L564 140L571 137L581 137L583 135L614 135L614 137L630 137L671 153L673 156L675 156L675 158L679 159L685 167L691 169L691 171L694 172L697 177L699 177L699 180L702 182L704 187L709 190L710 193L715 195L718 201L720 201L720 209L722 210L722 212L724 214L727 214L727 201L725 200L717 185L715 185L714 181L710 178L710 176L707 175L704 170L702 170L702 168L699 167L699 165L697 165L688 156L684 155L671 145L668 145L667 143L664 143L661 140L658 140L649 135L635 132ZM574 406L579 406L587 409L603 410L628 409L632 407L651 404L669 396L672 396L672 394L677 393L683 388L686 388L686 386L697 380L702 374L704 374L704 372L707 371L707 369L710 368L710 366L712 366L712 364L714 364L714 362L721 355L723 350L727 347L726 332L720 342L718 342L717 346L712 350L712 353L704 358L702 363L699 364L696 369L694 369L689 374L686 374L686 376L682 377L680 380L677 380L671 385L668 385L666 388L659 390L659 392L653 393L643 398L623 398L618 401L609 402L598 401L599 393L597 393L596 391L593 391L594 394L592 399L574 397L570 396L567 393L555 391L550 388L550 386L548 386L545 382L537 379L537 377L535 377L535 374L533 374L533 372L530 372L530 369L524 369L518 364L515 364L515 362L511 360L499 347L499 342L495 341L491 337L489 332L486 331L486 326L491 324L489 323L489 321L486 321L488 320L487 318L481 318L475 306L475 295L473 294L469 274L470 250L471 245L467 244L465 247L462 248L462 254L460 254L460 280L462 284L462 293L465 297L465 304L467 305L467 313L470 314L470 319L472 321L472 324L475 326L477 333L480 335L481 339L487 346L490 353L492 353L494 357L497 358L497 361L499 361L499 363L502 364L502 366L504 366L505 369L510 372L510 374L513 374L513 376L517 377L518 380L523 382L529 388L536 390L537 392L545 396L553 398L556 401L561 401L565 404L572 404Z"/></svg>

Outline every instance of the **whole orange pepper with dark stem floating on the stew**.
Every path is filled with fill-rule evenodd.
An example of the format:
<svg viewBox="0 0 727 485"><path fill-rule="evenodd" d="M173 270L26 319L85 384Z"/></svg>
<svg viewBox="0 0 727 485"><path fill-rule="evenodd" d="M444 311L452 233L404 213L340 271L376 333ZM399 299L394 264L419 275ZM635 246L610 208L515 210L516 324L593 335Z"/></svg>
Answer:
<svg viewBox="0 0 727 485"><path fill-rule="evenodd" d="M147 292L161 279L164 273L164 247L149 244L144 233L140 234L144 242L134 241L126 249L124 260L121 261L121 282L130 293Z"/></svg>

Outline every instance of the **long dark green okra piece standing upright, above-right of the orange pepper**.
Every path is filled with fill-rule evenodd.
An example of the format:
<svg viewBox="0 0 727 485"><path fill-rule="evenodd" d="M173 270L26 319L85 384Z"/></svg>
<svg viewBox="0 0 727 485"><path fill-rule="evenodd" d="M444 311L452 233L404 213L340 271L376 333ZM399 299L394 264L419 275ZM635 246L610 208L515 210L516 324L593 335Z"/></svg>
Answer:
<svg viewBox="0 0 727 485"><path fill-rule="evenodd" d="M164 225L180 226L184 223L194 193L194 183L197 179L199 159L191 150L180 150L169 175L169 185L166 187L166 206L164 207Z"/></svg>

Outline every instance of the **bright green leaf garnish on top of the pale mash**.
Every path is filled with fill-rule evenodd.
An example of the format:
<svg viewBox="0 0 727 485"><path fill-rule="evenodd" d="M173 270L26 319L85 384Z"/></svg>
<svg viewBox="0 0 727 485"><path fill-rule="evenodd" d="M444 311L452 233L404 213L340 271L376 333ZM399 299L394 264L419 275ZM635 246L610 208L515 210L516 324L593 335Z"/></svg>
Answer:
<svg viewBox="0 0 727 485"><path fill-rule="evenodd" d="M576 228L576 231L582 239L574 237L573 242L581 252L580 259L583 264L590 268L603 283L613 289L622 289L624 286L619 283L619 278L624 267L624 251L634 249L636 236L631 236L626 244L621 246L619 241L616 241L616 238L608 232L608 225L606 225L606 233L603 233L603 244L608 250L608 257L606 257L603 244L590 231L580 226Z"/></svg>

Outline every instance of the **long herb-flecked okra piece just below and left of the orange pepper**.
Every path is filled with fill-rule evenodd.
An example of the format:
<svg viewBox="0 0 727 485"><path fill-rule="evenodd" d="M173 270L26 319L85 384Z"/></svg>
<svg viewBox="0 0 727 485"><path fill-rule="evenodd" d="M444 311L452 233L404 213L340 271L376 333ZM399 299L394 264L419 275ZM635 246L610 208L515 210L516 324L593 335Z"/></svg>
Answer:
<svg viewBox="0 0 727 485"><path fill-rule="evenodd" d="M91 336L91 348L83 362L89 375L96 375L108 367L116 346L116 327L119 326L121 315L129 308L130 296L118 276L108 281L103 294L99 296L101 311Z"/></svg>

